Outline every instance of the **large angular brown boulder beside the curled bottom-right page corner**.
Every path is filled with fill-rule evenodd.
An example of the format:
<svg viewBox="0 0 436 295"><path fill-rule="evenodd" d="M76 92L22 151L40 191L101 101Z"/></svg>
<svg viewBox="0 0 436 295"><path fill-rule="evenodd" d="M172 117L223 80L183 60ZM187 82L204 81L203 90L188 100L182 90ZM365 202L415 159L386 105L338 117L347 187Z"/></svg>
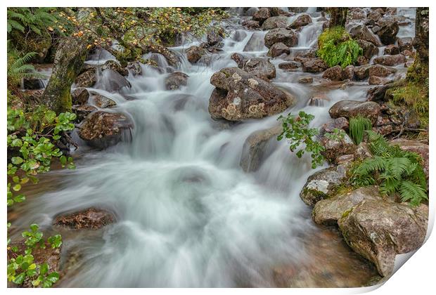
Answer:
<svg viewBox="0 0 436 295"><path fill-rule="evenodd" d="M428 206L368 200L338 220L347 244L372 261L383 277L394 270L396 254L418 249L428 225Z"/></svg>

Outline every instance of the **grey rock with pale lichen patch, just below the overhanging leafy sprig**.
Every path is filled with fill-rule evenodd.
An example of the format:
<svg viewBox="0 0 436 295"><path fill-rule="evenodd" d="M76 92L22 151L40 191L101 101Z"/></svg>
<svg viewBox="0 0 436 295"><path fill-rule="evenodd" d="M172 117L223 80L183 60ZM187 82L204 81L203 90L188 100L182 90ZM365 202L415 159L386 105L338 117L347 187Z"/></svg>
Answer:
<svg viewBox="0 0 436 295"><path fill-rule="evenodd" d="M321 199L328 199L334 194L338 186L346 181L347 170L346 165L338 165L312 174L307 178L307 182L300 192L300 198L309 206L315 206Z"/></svg>

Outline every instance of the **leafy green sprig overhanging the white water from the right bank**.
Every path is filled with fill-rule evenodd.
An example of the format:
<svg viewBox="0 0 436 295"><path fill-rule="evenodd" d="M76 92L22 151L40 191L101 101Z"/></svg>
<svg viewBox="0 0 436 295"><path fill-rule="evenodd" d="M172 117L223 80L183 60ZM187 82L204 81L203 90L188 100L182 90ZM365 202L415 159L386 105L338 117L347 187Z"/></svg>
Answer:
<svg viewBox="0 0 436 295"><path fill-rule="evenodd" d="M322 165L324 157L321 152L324 147L314 137L318 135L319 131L316 128L309 128L309 123L314 119L314 115L305 112L299 112L298 116L288 114L287 117L280 116L283 131L278 135L277 140L283 138L288 139L290 143L290 151L294 152L301 144L305 147L297 151L297 157L302 157L304 152L310 152L312 157L312 168Z"/></svg>

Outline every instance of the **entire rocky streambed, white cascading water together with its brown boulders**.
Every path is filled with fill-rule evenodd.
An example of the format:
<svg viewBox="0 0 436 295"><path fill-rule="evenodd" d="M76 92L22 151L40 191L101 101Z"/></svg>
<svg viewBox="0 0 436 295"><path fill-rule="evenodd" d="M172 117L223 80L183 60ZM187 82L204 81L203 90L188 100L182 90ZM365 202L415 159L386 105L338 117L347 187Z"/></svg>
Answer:
<svg viewBox="0 0 436 295"><path fill-rule="evenodd" d="M421 246L428 206L344 189L371 153L324 136L357 114L386 136L417 128L385 101L416 55L414 9L350 9L364 56L345 69L316 56L322 10L232 13L202 41L146 54L153 63L89 55L72 87L77 169L48 173L9 213L16 235L34 222L63 234L59 287L361 287ZM326 147L316 170L276 140L277 117L300 110ZM428 143L392 143L428 172Z"/></svg>

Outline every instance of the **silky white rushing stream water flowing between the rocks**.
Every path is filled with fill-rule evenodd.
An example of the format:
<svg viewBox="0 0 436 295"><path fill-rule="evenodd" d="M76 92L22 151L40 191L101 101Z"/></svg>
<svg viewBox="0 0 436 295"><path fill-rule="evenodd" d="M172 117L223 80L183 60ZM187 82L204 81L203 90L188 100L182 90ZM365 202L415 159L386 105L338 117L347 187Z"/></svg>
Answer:
<svg viewBox="0 0 436 295"><path fill-rule="evenodd" d="M321 15L309 12L314 22L299 33L291 54L316 45ZM236 67L232 53L267 54L265 32L248 31L238 21L228 21L230 34L222 53L211 55L210 65L186 60L184 50L198 41L173 48L181 57L178 70L189 75L180 90L165 90L167 73L146 65L141 76L129 75L132 88L120 93L101 90L107 81L100 77L92 90L115 100L113 110L132 118L132 140L104 151L80 145L77 169L43 176L37 187L27 188L30 197L13 212L17 233L34 222L50 231L54 216L89 206L117 215L117 223L101 231L62 232L61 268L72 256L77 263L60 287L359 287L376 276L337 230L312 222L311 209L299 197L314 173L310 157L298 159L288 143L273 138L258 171L241 169L245 139L277 124L278 115L241 124L210 118L212 74ZM400 33L410 36L412 25ZM110 58L101 53L89 63ZM148 58L169 68L161 55ZM338 100L366 98L366 82L298 84L300 77L321 74L283 72L277 67L281 62L271 60L277 71L272 82L297 98L297 105L283 114L304 110L315 115L312 126L321 126ZM326 96L325 103L309 106L316 93Z"/></svg>

